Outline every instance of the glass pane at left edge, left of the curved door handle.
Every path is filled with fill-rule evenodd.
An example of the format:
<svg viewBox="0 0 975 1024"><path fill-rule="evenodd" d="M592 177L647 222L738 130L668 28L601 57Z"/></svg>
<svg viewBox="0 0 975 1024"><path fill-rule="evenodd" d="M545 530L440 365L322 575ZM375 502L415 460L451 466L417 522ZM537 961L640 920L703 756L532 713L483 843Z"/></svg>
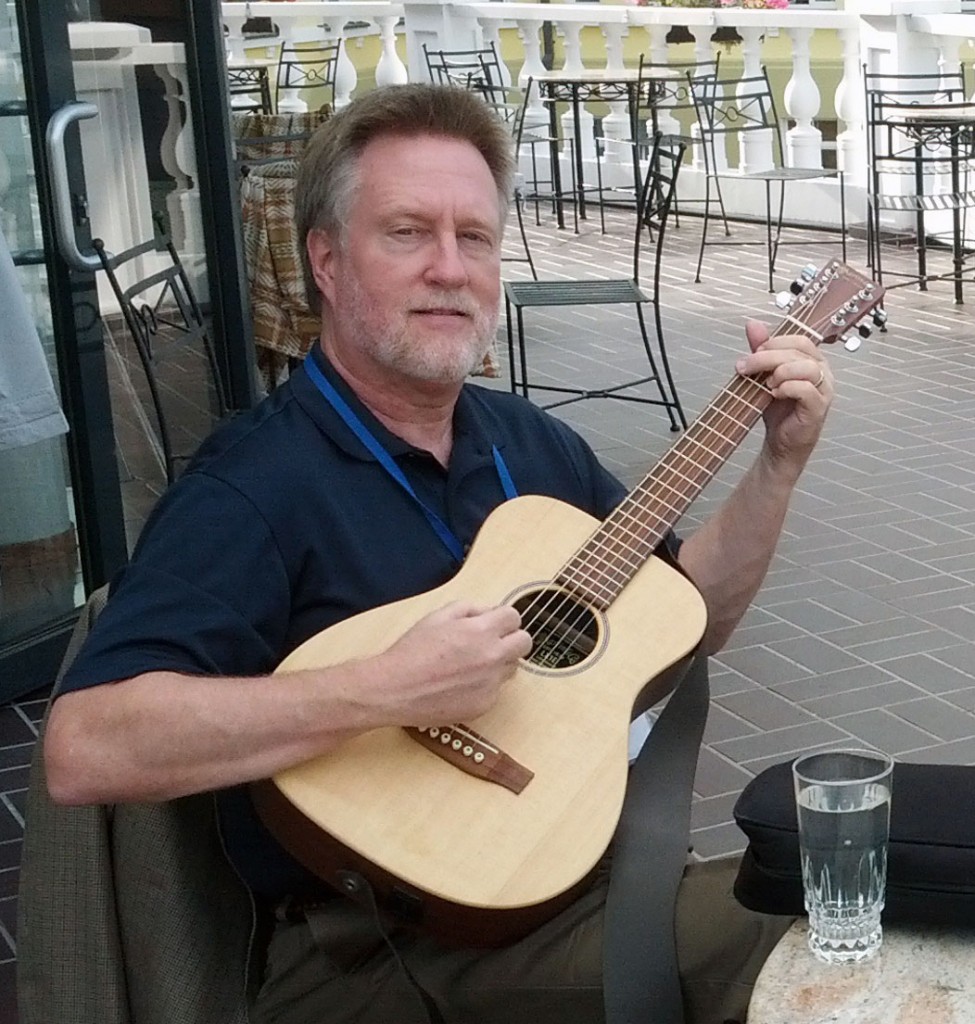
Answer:
<svg viewBox="0 0 975 1024"><path fill-rule="evenodd" d="M83 599L14 18L0 6L0 647Z"/></svg>

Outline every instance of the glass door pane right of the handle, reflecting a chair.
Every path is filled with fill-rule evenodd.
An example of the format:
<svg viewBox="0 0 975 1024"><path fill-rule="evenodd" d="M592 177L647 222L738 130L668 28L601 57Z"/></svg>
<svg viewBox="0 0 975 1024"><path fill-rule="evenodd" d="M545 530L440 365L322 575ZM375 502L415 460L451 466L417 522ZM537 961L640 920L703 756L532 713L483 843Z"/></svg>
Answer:
<svg viewBox="0 0 975 1024"><path fill-rule="evenodd" d="M221 413L210 354L208 279L187 103L185 23L151 3L107 4L128 20L69 26L91 234L120 261L97 274L125 506L133 546L169 479ZM131 13L130 13L131 12ZM227 182L227 187L231 182ZM168 237L172 249L159 243ZM157 240L155 247L123 257ZM178 274L181 269L185 274ZM160 280L159 274L173 274ZM155 283L123 299L146 279ZM188 294L187 294L188 289Z"/></svg>

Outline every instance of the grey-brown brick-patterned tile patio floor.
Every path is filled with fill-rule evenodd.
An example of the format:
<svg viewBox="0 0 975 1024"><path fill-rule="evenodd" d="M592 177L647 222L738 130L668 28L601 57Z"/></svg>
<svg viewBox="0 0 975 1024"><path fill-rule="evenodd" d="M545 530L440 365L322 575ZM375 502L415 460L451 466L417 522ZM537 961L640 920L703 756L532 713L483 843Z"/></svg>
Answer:
<svg viewBox="0 0 975 1024"><path fill-rule="evenodd" d="M608 233L532 228L544 276L628 273L629 220ZM672 231L664 270L668 348L688 418L728 381L747 316L775 322L760 247L710 249L706 285L691 284L700 222ZM754 226L736 237L759 239ZM786 248L780 285L838 240ZM849 261L862 265L861 243ZM909 259L906 254L905 259ZM505 273L523 275L521 264ZM972 274L968 274L975 301ZM693 842L704 857L738 850L731 807L759 770L799 752L870 744L915 761L975 762L975 318L947 285L889 296L889 331L858 352L831 353L837 399L753 608L712 665L713 701L701 753ZM627 311L529 312L535 375L597 383L639 373ZM536 379L541 380L541 376ZM502 379L496 386L507 386ZM544 400L544 395L537 395ZM590 400L559 412L634 484L674 435L662 411ZM761 428L685 516L689 531L717 507L753 457ZM135 458L138 453L128 453ZM130 488L132 489L132 488ZM139 488L134 488L138 490ZM129 496L144 514L150 481ZM141 503L141 505L139 505ZM14 911L27 764L42 692L0 709L0 1024L15 1024Z"/></svg>

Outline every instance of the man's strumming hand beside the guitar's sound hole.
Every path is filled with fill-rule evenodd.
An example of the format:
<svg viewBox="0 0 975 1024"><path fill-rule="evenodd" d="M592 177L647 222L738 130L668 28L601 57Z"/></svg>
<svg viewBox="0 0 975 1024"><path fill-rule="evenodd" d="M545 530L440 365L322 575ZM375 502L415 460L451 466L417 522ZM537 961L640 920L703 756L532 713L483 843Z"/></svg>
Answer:
<svg viewBox="0 0 975 1024"><path fill-rule="evenodd" d="M400 725L477 718L531 651L532 637L514 608L455 601L425 615L379 655L388 671L376 697Z"/></svg>

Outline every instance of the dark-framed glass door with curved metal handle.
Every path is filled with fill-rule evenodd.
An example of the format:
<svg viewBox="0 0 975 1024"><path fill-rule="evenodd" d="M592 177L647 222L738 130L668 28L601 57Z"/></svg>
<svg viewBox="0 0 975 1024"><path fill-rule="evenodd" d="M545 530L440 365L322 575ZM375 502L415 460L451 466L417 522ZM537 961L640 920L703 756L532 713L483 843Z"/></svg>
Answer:
<svg viewBox="0 0 975 1024"><path fill-rule="evenodd" d="M92 238L121 252L170 234L229 404L252 400L216 5L162 6L173 16L155 31L103 20L95 0L0 0L0 701L50 681L166 485ZM193 354L160 370L163 391L205 393ZM222 412L203 397L168 415L192 451Z"/></svg>

